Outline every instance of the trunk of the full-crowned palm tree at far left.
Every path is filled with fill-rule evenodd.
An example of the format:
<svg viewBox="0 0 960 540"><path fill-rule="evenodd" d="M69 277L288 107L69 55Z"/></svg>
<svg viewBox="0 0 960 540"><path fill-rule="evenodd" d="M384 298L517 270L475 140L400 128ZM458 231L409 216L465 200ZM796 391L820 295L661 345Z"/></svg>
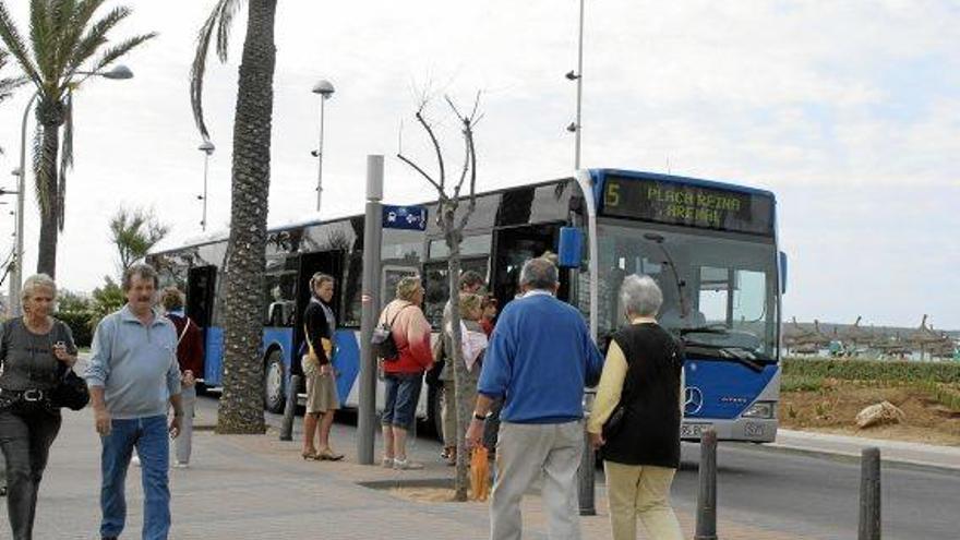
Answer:
<svg viewBox="0 0 960 540"><path fill-rule="evenodd" d="M57 156L60 148L62 122L44 123L40 166L37 171L37 193L46 201L40 204L40 240L37 245L37 273L57 277L57 239L60 233L60 197L57 182Z"/></svg>

